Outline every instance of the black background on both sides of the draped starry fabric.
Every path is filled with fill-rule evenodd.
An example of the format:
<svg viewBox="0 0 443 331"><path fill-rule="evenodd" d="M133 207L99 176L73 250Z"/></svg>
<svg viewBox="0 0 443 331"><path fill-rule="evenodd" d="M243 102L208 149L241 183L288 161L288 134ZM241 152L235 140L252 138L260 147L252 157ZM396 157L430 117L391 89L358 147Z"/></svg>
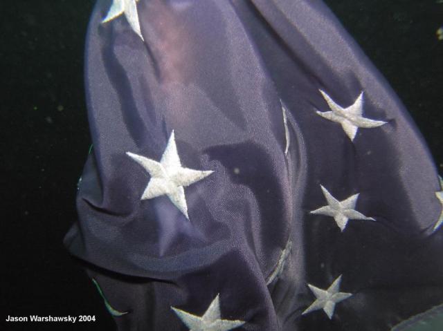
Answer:
<svg viewBox="0 0 443 331"><path fill-rule="evenodd" d="M443 3L328 0L397 91L443 172ZM89 149L83 46L93 0L2 1L1 303L8 315L95 315L95 323L10 323L0 330L114 330L62 238L76 219Z"/></svg>

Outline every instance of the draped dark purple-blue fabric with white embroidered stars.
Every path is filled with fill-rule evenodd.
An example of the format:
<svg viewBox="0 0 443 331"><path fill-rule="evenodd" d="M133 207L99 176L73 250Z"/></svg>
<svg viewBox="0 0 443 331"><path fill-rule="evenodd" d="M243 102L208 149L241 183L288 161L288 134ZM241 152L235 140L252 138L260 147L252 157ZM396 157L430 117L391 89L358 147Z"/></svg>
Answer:
<svg viewBox="0 0 443 331"><path fill-rule="evenodd" d="M390 330L443 303L435 165L323 2L98 0L85 63L64 243L118 330Z"/></svg>

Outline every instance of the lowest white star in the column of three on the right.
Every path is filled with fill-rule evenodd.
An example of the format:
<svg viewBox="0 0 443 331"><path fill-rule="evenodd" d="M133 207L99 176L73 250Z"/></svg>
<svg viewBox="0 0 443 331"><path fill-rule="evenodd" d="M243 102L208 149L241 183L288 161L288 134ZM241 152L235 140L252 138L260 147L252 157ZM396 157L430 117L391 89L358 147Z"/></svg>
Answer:
<svg viewBox="0 0 443 331"><path fill-rule="evenodd" d="M314 301L314 303L312 303L304 312L302 312L302 315L309 312L314 312L315 310L323 309L329 319L332 319L335 305L352 296L352 293L340 292L340 283L341 275L336 278L334 283L332 283L327 290L322 290L314 285L308 284L312 293L314 293L316 296L316 301Z"/></svg>

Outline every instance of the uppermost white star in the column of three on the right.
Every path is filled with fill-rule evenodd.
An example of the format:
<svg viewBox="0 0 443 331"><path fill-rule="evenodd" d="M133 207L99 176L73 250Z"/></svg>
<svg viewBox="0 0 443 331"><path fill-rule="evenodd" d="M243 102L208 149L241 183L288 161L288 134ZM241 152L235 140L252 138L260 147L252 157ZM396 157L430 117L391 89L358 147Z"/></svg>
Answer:
<svg viewBox="0 0 443 331"><path fill-rule="evenodd" d="M325 92L319 91L332 111L317 111L316 113L321 117L325 117L327 120L341 124L341 127L351 141L354 141L359 128L377 128L378 126L386 124L386 122L383 121L370 120L369 118L363 117L363 92L360 93L354 104L343 108L336 104Z"/></svg>

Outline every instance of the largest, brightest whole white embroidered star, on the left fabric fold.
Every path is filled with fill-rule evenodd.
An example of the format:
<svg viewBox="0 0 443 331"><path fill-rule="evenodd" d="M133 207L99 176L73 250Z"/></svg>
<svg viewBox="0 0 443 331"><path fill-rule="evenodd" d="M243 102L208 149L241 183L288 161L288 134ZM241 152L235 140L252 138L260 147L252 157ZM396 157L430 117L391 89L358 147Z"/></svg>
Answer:
<svg viewBox="0 0 443 331"><path fill-rule="evenodd" d="M151 176L141 200L168 196L189 220L184 187L202 180L214 171L199 171L181 167L174 131L171 133L160 162L130 152L127 152L127 155L145 168Z"/></svg>

